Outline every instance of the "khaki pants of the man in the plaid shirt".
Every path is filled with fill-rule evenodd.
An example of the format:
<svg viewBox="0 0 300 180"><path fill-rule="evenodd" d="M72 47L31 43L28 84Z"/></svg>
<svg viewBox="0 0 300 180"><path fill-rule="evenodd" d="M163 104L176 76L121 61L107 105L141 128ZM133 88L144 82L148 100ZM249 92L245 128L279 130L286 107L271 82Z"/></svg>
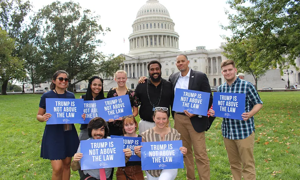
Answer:
<svg viewBox="0 0 300 180"><path fill-rule="evenodd" d="M255 180L255 161L253 157L254 131L245 139L224 139L228 154L232 180ZM243 165L243 168L242 168Z"/></svg>

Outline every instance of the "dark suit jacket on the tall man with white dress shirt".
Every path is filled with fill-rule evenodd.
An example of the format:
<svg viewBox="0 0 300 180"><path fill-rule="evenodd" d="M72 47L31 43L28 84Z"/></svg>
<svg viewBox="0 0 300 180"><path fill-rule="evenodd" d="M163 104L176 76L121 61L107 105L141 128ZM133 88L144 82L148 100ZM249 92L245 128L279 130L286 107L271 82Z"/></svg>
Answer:
<svg viewBox="0 0 300 180"><path fill-rule="evenodd" d="M172 88L173 88L172 89L171 109L173 109L173 101L174 101L174 95L175 95L174 88L175 88L175 85L176 85L176 82L178 80L180 73L181 72L173 73L169 77L169 81L172 83ZM210 93L209 105L207 107L207 111L208 111L209 108L212 106L212 91L210 89L210 85L209 85L206 74L204 74L200 71L194 71L191 69L190 78L189 78L189 82L188 82L188 89ZM172 116L174 118L174 111L172 111ZM201 118L199 118L198 116L194 116L194 117L190 118L190 120L192 122L192 125L193 125L195 131L197 131L197 132L203 132L205 130L208 130L211 125L207 116L202 116Z"/></svg>

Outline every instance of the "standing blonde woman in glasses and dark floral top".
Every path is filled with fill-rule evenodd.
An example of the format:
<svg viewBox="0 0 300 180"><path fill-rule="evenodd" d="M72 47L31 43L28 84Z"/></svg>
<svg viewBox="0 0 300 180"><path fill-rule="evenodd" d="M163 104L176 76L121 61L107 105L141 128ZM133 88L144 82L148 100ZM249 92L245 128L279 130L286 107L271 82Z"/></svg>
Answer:
<svg viewBox="0 0 300 180"><path fill-rule="evenodd" d="M138 106L141 102L138 100L137 95L133 90L130 90L126 87L127 81L127 73L123 70L119 70L114 75L115 81L118 84L118 87L109 90L107 93L107 98L121 96L121 95L129 95L130 104L133 109L133 116L138 116ZM108 129L110 135L121 136L123 135L123 123L122 117L118 119L109 119Z"/></svg>

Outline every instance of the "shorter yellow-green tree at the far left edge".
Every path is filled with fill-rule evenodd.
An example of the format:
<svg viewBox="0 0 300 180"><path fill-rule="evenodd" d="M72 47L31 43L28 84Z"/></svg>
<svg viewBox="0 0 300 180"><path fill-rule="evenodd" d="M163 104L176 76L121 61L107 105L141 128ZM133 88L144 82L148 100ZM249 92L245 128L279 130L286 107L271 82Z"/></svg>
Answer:
<svg viewBox="0 0 300 180"><path fill-rule="evenodd" d="M23 71L23 60L12 56L15 49L15 41L8 36L5 30L0 28L0 80L2 81L1 93L6 95L8 81L22 79L25 76Z"/></svg>

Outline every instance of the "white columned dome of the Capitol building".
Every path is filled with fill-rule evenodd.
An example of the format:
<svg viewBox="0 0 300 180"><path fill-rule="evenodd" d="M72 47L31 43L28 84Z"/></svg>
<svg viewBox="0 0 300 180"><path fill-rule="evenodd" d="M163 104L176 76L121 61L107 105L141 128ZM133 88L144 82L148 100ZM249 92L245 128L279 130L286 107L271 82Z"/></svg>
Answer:
<svg viewBox="0 0 300 180"><path fill-rule="evenodd" d="M129 54L165 54L179 51L179 35L168 9L157 0L148 0L137 13L129 36Z"/></svg>

